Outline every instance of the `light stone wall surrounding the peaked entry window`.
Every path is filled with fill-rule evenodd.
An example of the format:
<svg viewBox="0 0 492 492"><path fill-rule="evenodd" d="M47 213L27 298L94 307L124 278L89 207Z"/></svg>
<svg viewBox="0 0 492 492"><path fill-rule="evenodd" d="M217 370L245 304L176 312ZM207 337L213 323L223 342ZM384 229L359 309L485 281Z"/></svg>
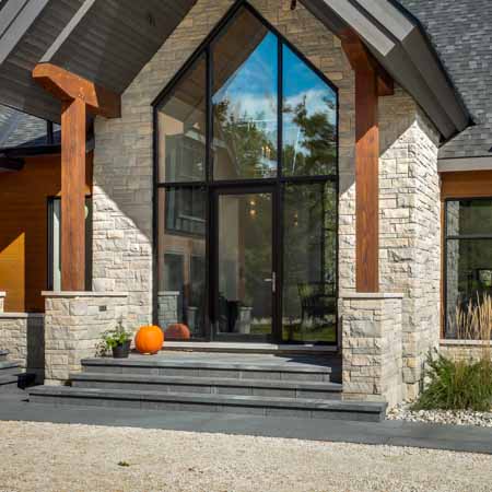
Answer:
<svg viewBox="0 0 492 492"><path fill-rule="evenodd" d="M137 75L121 98L121 118L95 121L93 283L95 291L128 291L129 321L152 315L152 107L234 2L198 0L190 13ZM340 282L354 282L354 78L340 40L302 4L250 2L339 89Z"/></svg>

